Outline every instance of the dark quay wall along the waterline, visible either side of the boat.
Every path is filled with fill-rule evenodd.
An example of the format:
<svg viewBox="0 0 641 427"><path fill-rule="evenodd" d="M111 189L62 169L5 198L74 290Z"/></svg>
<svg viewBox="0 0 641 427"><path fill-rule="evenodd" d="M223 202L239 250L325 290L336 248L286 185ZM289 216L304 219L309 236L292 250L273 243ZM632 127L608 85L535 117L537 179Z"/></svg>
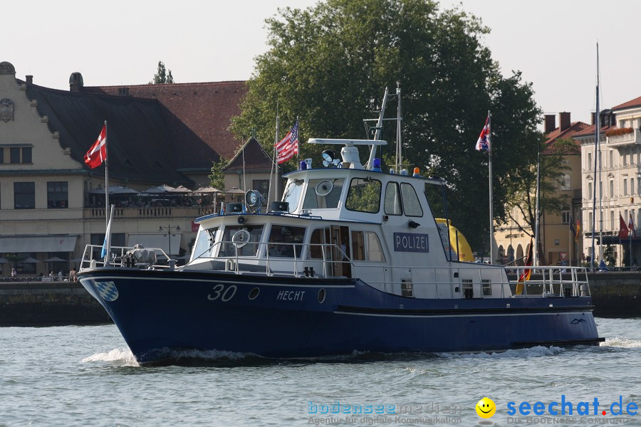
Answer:
<svg viewBox="0 0 641 427"><path fill-rule="evenodd" d="M588 273L597 317L641 317L641 272ZM75 282L0 282L0 326L111 323Z"/></svg>

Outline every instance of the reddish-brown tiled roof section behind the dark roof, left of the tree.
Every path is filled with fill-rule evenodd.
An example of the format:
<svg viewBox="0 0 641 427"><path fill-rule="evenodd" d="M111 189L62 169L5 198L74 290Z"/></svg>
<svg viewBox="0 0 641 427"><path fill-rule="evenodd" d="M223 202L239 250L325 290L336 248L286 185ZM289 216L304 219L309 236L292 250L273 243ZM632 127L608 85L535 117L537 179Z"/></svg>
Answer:
<svg viewBox="0 0 641 427"><path fill-rule="evenodd" d="M240 142L229 132L231 117L240 114L244 81L160 85L85 86L82 92L155 99L164 107L170 141L176 145L179 169L211 168L220 157L230 159Z"/></svg>

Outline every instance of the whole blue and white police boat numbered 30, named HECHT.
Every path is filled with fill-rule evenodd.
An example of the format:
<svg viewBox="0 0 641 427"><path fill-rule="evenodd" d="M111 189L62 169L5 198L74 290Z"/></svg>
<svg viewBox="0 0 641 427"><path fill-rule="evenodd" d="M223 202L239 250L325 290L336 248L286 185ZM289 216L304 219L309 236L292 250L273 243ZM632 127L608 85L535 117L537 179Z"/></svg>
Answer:
<svg viewBox="0 0 641 427"><path fill-rule="evenodd" d="M525 288L538 293L515 295L523 268L461 262L450 248L428 202L444 181L381 172L374 154L385 141L308 142L342 146L341 158L325 150L329 167L301 162L266 213L248 191L244 204L197 218L183 267L152 265L129 248L104 263L88 246L80 283L138 362L184 349L280 358L603 340L585 269L537 267L540 279ZM360 163L362 147L371 167Z"/></svg>

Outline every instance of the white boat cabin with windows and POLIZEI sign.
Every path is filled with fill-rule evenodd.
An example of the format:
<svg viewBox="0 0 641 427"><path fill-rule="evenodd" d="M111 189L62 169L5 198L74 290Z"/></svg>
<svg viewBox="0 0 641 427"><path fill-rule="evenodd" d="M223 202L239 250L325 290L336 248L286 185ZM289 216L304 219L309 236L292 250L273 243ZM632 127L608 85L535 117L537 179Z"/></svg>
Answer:
<svg viewBox="0 0 641 427"><path fill-rule="evenodd" d="M323 152L325 167L287 176L280 202L259 208L260 194L198 218L189 263L182 270L353 278L383 292L419 298L511 295L503 268L459 262L448 228L439 226L429 197L444 181L360 164L358 146L384 141L310 140L343 144L342 162ZM253 205L253 206L252 206ZM453 259L454 258L454 259Z"/></svg>

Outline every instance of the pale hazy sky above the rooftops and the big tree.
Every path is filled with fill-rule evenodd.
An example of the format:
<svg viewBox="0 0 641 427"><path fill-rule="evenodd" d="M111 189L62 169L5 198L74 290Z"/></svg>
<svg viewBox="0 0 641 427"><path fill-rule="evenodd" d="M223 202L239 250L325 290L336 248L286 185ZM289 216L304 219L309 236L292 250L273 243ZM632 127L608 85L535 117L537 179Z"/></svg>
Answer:
<svg viewBox="0 0 641 427"><path fill-rule="evenodd" d="M264 20L317 0L5 1L0 61L16 77L68 90L149 83L162 60L176 83L246 80L267 51ZM520 70L546 114L568 111L590 123L595 110L596 44L602 108L641 96L641 1L443 0L479 16L482 43L504 75ZM1 94L0 94L1 95ZM558 117L558 116L557 116ZM558 118L557 118L558 124Z"/></svg>

